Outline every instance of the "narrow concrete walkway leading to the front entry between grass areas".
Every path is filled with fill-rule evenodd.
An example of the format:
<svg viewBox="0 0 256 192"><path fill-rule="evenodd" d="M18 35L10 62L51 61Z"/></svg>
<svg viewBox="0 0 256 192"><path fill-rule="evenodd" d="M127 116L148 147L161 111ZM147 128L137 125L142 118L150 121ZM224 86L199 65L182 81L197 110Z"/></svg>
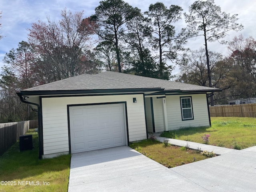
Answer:
<svg viewBox="0 0 256 192"><path fill-rule="evenodd" d="M170 139L170 138L164 138L160 137L160 134L156 134L156 139L159 140L160 142L163 142L164 139L168 139L169 143L172 145L176 146L189 146L190 149L200 149L201 151L208 151L208 152L214 152L217 155L223 155L227 154L230 152L236 151L235 149L230 149L230 148L224 148L224 147L218 147L218 146L212 146L212 145L206 145L206 144L200 144L200 143L195 143L195 142L190 142L190 141L183 141L183 140L178 140L178 139Z"/></svg>

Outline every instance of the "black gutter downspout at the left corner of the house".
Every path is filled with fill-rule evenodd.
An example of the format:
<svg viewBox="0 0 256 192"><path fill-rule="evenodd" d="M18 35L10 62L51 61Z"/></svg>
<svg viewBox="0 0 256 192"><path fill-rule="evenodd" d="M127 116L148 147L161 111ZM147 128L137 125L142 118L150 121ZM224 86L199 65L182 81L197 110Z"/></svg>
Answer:
<svg viewBox="0 0 256 192"><path fill-rule="evenodd" d="M18 94L18 93L17 93ZM26 103L26 104L31 104L31 105L36 105L37 106L37 113L38 113L38 146L39 146L39 159L42 159L42 113L41 113L41 107L39 104L37 103L32 103L32 102L28 102L26 100L24 100L24 98L22 97L22 95L19 95L21 102ZM33 110L35 111L35 110Z"/></svg>

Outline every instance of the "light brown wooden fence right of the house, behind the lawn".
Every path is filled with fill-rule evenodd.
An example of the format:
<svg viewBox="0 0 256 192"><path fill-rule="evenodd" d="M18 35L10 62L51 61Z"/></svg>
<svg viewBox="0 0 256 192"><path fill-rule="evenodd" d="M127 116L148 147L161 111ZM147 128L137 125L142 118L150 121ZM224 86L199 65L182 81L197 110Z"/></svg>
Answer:
<svg viewBox="0 0 256 192"><path fill-rule="evenodd" d="M256 117L256 103L210 106L211 117Z"/></svg>

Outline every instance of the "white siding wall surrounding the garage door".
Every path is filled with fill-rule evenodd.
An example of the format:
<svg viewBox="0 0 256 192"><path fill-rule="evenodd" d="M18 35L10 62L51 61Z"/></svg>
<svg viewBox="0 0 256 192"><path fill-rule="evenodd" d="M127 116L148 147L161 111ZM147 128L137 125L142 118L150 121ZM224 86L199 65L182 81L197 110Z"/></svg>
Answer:
<svg viewBox="0 0 256 192"><path fill-rule="evenodd" d="M136 97L137 103L133 103L132 98L134 97ZM129 140L146 139L142 94L42 98L44 155L69 151L67 105L125 101L127 103Z"/></svg>

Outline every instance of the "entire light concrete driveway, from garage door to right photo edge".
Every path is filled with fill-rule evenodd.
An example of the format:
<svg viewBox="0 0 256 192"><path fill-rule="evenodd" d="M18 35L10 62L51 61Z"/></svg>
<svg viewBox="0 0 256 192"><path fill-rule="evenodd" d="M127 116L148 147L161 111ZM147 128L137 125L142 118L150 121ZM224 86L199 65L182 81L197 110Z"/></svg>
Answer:
<svg viewBox="0 0 256 192"><path fill-rule="evenodd" d="M168 169L128 146L73 154L69 192L255 192L256 147Z"/></svg>

